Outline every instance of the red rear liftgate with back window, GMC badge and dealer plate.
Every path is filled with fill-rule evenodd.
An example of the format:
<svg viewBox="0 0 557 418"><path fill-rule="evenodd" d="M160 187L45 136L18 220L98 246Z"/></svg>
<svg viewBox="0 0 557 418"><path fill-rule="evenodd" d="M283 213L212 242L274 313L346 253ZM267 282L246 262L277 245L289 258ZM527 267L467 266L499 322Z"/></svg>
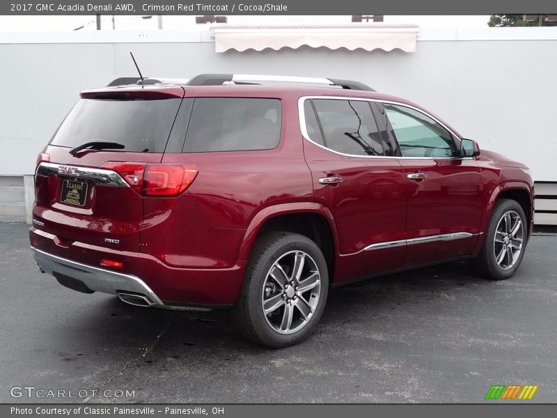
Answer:
<svg viewBox="0 0 557 418"><path fill-rule="evenodd" d="M143 174L162 161L183 92L138 86L81 93L39 155L35 226L61 247L78 241L139 251Z"/></svg>

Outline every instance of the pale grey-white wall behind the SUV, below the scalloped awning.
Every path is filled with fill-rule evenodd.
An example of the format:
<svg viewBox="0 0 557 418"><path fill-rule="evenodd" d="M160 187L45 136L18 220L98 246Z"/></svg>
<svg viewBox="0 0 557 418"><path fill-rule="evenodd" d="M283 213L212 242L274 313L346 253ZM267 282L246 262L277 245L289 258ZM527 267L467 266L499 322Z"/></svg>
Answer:
<svg viewBox="0 0 557 418"><path fill-rule="evenodd" d="M61 42L61 43L53 43ZM207 31L0 34L0 175L37 153L84 88L202 72L356 79L423 104L483 148L557 181L557 29L423 31L415 53L345 49L214 52Z"/></svg>

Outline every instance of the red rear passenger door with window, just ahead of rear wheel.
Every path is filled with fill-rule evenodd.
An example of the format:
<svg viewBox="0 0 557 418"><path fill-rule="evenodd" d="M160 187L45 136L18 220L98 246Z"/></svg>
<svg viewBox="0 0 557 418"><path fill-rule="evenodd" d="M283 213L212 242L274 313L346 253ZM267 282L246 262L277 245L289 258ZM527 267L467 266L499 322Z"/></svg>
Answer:
<svg viewBox="0 0 557 418"><path fill-rule="evenodd" d="M300 105L315 201L336 222L335 281L393 270L405 253L405 180L386 133L377 127L374 106L345 98Z"/></svg>

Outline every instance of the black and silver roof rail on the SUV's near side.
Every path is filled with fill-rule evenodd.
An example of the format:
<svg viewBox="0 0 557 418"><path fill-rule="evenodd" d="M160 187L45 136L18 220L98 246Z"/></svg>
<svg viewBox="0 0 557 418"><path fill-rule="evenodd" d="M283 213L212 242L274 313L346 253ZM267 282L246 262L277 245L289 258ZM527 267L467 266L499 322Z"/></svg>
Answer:
<svg viewBox="0 0 557 418"><path fill-rule="evenodd" d="M360 82L343 79L327 79L317 77L289 77L279 75L247 75L247 74L200 74L189 80L188 86L221 86L222 84L246 82L275 82L275 83L308 83L340 86L350 90L375 91L370 86Z"/></svg>

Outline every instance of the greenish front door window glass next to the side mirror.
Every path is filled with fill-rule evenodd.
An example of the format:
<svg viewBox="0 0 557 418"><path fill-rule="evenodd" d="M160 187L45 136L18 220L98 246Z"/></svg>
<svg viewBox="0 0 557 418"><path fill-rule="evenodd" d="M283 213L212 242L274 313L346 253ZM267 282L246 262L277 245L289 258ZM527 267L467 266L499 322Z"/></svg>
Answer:
<svg viewBox="0 0 557 418"><path fill-rule="evenodd" d="M429 116L405 106L383 104L402 157L454 157L450 132Z"/></svg>

